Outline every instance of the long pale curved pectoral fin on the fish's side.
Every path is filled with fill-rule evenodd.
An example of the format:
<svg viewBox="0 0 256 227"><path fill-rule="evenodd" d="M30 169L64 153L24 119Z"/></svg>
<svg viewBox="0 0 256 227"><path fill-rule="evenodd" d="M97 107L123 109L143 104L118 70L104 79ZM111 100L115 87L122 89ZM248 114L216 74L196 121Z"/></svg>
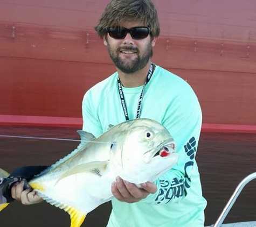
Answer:
<svg viewBox="0 0 256 227"><path fill-rule="evenodd" d="M60 180L66 178L67 176L71 176L73 174L78 174L78 173L92 173L98 176L102 176L102 172L106 170L107 165L108 165L108 161L92 161L86 164L75 166L74 168L69 169L64 174L62 174L60 178L57 180L56 184Z"/></svg>

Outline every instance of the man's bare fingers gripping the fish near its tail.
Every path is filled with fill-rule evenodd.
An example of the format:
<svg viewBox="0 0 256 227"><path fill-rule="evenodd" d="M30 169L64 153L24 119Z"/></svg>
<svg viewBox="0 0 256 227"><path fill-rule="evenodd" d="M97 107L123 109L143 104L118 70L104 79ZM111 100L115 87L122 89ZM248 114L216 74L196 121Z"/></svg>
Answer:
<svg viewBox="0 0 256 227"><path fill-rule="evenodd" d="M32 205L43 201L43 198L39 197L36 191L31 191L30 189L24 190L24 181L12 186L11 196L15 200L21 201L24 205Z"/></svg>

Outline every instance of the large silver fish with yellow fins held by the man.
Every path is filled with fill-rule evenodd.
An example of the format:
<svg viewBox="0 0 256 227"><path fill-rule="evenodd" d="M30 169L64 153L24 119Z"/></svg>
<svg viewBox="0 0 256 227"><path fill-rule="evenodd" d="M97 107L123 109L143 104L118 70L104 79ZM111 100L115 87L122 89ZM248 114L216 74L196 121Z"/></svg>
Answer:
<svg viewBox="0 0 256 227"><path fill-rule="evenodd" d="M68 212L71 227L81 226L89 212L112 200L111 185L117 176L140 187L177 164L174 138L155 120L111 125L98 138L78 133L81 142L74 151L28 182L43 200Z"/></svg>

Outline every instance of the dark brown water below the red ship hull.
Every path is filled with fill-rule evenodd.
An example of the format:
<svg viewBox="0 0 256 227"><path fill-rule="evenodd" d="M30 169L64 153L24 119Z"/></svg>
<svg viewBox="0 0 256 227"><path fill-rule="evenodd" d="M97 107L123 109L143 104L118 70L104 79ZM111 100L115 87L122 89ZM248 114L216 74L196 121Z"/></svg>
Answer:
<svg viewBox="0 0 256 227"><path fill-rule="evenodd" d="M0 126L0 134L79 139L77 129L57 127ZM0 166L6 171L26 165L51 165L70 153L79 142L0 137ZM256 134L202 133L197 153L203 193L208 201L205 225L217 221L238 183L256 172ZM256 221L256 181L242 191L225 223ZM106 226L111 205L106 203L88 214L82 226ZM45 202L24 206L10 204L0 212L0 226L69 226L69 216Z"/></svg>

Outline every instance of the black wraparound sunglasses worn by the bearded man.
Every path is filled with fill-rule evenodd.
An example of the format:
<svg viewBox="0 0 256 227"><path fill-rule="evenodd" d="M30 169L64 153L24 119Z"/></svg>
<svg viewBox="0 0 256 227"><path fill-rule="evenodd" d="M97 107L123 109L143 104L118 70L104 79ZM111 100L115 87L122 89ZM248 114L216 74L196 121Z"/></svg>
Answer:
<svg viewBox="0 0 256 227"><path fill-rule="evenodd" d="M110 37L114 39L124 39L127 32L130 33L133 39L144 39L147 38L150 33L150 27L108 27L107 32Z"/></svg>

